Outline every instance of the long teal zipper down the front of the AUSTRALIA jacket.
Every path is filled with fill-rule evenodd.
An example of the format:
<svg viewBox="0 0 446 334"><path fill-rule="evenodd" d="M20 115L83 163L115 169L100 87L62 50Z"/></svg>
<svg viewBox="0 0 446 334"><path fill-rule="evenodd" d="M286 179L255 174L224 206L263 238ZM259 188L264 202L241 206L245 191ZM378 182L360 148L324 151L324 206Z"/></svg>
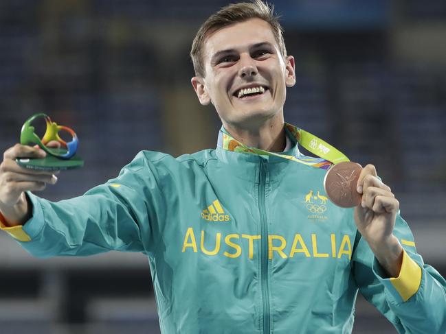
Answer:
<svg viewBox="0 0 446 334"><path fill-rule="evenodd" d="M269 334L269 282L268 282L268 226L265 211L265 181L267 166L265 160L260 158L260 175L258 183L258 208L260 211L260 231L262 237L262 250L260 270L262 272L262 300L263 300L263 333Z"/></svg>

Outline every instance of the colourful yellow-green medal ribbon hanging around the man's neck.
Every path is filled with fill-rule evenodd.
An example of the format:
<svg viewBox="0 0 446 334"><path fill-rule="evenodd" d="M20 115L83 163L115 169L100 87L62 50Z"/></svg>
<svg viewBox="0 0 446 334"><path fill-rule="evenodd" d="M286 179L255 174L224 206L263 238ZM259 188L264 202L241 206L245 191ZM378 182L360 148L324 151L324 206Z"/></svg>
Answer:
<svg viewBox="0 0 446 334"><path fill-rule="evenodd" d="M289 131L291 136L293 136L296 141L302 145L309 152L320 156L320 158L312 157L297 157L289 156L287 154L277 154L274 152L268 152L265 150L260 150L256 147L248 147L243 143L240 143L236 139L232 138L229 134L220 130L219 133L219 143L218 146L222 147L224 150L232 152L241 152L247 154L258 154L264 156L278 156L280 158L285 158L289 160L296 161L296 163L302 163L304 165L328 169L331 165L337 163L342 163L343 161L350 161L345 154L337 150L332 145L326 143L322 139L318 138L314 134L306 132L296 126L289 123L285 123L285 128Z"/></svg>

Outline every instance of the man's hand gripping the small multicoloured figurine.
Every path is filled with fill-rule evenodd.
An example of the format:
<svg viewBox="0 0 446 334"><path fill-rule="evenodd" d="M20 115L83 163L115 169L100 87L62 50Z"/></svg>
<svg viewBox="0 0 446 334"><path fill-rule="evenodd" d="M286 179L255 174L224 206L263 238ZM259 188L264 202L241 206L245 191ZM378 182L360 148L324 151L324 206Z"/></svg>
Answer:
<svg viewBox="0 0 446 334"><path fill-rule="evenodd" d="M58 147L56 141L49 147ZM3 154L0 164L0 212L8 226L23 224L30 217L30 206L25 191L41 191L47 183L55 184L58 171L27 169L16 163L16 158L44 158L46 153L37 145L34 147L16 144Z"/></svg>

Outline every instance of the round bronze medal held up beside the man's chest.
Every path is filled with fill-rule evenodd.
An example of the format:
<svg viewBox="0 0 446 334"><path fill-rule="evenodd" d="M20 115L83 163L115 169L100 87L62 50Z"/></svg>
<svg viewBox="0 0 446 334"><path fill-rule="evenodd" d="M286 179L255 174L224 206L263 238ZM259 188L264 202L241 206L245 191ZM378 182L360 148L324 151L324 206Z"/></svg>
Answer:
<svg viewBox="0 0 446 334"><path fill-rule="evenodd" d="M357 192L357 182L362 167L346 161L328 169L324 178L324 189L331 202L342 208L361 204L362 195Z"/></svg>

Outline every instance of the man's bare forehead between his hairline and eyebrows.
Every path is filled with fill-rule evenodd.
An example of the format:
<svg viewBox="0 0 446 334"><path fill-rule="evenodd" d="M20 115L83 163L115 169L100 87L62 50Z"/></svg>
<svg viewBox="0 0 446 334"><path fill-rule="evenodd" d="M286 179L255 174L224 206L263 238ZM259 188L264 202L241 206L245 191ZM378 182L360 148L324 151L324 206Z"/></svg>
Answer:
<svg viewBox="0 0 446 334"><path fill-rule="evenodd" d="M216 29L206 37L203 46L205 58L208 58L219 51L249 49L260 43L270 43L278 47L269 23L261 19L249 19Z"/></svg>

